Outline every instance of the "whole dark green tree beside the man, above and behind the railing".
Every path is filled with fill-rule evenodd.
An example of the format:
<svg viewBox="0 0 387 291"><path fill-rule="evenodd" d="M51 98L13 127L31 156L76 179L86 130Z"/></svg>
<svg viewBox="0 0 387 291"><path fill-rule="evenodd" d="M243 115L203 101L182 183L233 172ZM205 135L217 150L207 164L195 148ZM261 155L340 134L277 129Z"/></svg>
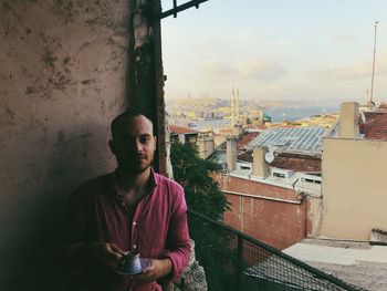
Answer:
<svg viewBox="0 0 387 291"><path fill-rule="evenodd" d="M174 143L170 150L175 179L184 186L188 209L215 220L222 218L228 202L211 177L221 166L201 159L192 144ZM230 232L195 216L189 216L190 237L196 256L205 268L209 290L236 290L237 252Z"/></svg>

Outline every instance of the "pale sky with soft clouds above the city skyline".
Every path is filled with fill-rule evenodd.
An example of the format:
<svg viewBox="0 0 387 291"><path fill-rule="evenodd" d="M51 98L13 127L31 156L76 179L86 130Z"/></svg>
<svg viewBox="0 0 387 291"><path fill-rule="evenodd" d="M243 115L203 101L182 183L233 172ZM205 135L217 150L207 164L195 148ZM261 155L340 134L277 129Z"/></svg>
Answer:
<svg viewBox="0 0 387 291"><path fill-rule="evenodd" d="M187 1L178 0L178 4ZM161 0L163 10L172 0ZM165 96L387 98L387 1L209 0L161 20Z"/></svg>

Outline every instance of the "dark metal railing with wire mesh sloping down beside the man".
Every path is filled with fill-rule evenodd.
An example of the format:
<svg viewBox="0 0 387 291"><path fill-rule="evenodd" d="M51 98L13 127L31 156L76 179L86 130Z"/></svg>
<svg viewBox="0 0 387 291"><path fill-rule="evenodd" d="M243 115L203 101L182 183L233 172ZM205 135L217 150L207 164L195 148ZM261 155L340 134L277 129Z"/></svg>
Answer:
<svg viewBox="0 0 387 291"><path fill-rule="evenodd" d="M209 290L364 290L201 214L188 210Z"/></svg>

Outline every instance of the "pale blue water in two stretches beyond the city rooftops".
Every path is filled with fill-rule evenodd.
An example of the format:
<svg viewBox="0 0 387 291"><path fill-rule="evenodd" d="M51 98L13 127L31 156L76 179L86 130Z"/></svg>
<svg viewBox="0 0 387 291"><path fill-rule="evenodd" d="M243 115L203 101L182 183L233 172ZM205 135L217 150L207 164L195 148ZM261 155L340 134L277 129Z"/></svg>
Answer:
<svg viewBox="0 0 387 291"><path fill-rule="evenodd" d="M272 122L278 123L283 119L287 122L294 122L297 119L306 118L312 115L324 114L324 113L333 113L338 112L338 106L304 106L304 107L266 107L263 110L265 114L272 117ZM220 118L211 118L211 119L202 119L198 122L191 122L189 127L192 129L201 131L208 127L220 128L229 126L231 123L230 119L220 119Z"/></svg>

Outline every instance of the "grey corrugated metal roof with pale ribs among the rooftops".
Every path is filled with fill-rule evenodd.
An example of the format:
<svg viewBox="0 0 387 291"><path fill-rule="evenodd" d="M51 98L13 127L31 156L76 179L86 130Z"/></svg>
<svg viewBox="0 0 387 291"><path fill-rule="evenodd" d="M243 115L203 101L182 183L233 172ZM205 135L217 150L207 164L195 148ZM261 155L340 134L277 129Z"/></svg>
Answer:
<svg viewBox="0 0 387 291"><path fill-rule="evenodd" d="M259 135L248 146L275 147L281 152L321 153L325 131L322 127L275 127Z"/></svg>

